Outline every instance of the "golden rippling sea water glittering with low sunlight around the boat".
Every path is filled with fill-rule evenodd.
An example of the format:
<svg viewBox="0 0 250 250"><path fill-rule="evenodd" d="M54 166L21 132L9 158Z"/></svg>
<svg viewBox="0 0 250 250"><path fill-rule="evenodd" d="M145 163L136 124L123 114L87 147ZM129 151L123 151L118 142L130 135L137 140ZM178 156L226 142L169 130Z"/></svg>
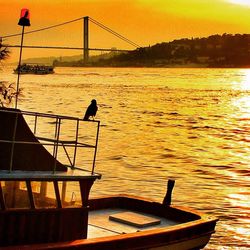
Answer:
<svg viewBox="0 0 250 250"><path fill-rule="evenodd" d="M0 80L16 84L11 67ZM56 68L21 75L18 108L101 121L91 196L128 193L219 218L206 249L250 248L250 69Z"/></svg>

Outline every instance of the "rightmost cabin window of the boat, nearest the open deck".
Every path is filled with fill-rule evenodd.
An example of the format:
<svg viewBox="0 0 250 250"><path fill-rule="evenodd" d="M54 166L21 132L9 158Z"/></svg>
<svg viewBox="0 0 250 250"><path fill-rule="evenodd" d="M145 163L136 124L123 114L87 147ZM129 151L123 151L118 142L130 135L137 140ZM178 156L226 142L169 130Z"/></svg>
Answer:
<svg viewBox="0 0 250 250"><path fill-rule="evenodd" d="M82 199L78 181L59 181L62 207L81 207Z"/></svg>

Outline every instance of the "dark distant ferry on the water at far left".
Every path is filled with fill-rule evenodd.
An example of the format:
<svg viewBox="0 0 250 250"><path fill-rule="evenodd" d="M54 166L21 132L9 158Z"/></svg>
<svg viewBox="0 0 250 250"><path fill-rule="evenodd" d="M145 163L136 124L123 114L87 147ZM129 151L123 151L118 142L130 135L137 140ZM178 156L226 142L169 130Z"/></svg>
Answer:
<svg viewBox="0 0 250 250"><path fill-rule="evenodd" d="M18 70L20 71L20 74L36 74L36 75L45 75L45 74L53 74L55 73L53 66L47 66L47 65L39 65L39 64L22 64L20 66L17 66L16 69L14 69L14 73L18 74Z"/></svg>

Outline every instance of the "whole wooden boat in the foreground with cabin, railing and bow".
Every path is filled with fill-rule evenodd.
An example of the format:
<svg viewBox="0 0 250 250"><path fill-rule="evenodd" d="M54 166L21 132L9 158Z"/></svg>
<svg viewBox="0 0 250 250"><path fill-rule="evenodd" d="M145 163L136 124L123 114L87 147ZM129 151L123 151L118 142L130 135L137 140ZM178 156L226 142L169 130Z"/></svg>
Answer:
<svg viewBox="0 0 250 250"><path fill-rule="evenodd" d="M34 118L33 130L24 116ZM200 249L214 233L216 218L171 205L172 180L162 203L129 195L89 199L101 178L94 172L99 121L4 108L0 117L1 249ZM37 135L40 119L55 121L45 122L55 127L53 139ZM60 137L67 121L76 124L74 140ZM95 127L93 143L80 141L81 125ZM60 146L69 165L59 161ZM90 170L75 165L80 148L93 150Z"/></svg>

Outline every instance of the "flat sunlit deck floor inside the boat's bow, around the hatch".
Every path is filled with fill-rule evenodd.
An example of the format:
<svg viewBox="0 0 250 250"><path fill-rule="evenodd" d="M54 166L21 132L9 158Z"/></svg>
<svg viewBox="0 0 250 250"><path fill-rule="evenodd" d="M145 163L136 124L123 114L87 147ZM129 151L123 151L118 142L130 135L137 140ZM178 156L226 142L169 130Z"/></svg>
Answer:
<svg viewBox="0 0 250 250"><path fill-rule="evenodd" d="M105 236L114 236L120 234L134 233L138 231L145 231L155 228L162 228L167 226L173 226L179 224L177 221L169 220L162 217L157 217L152 214L145 214L136 212L135 216L131 215L131 220L128 222L118 222L113 221L109 217L110 215L116 215L118 213L132 212L132 210L124 210L120 208L114 209L101 209L96 211L89 212L89 221L88 221L88 238L98 238ZM138 218L135 218L137 217ZM159 224L156 225L130 225L134 220L142 220L141 216L147 216L149 220L159 221ZM143 223L143 222L142 222Z"/></svg>

